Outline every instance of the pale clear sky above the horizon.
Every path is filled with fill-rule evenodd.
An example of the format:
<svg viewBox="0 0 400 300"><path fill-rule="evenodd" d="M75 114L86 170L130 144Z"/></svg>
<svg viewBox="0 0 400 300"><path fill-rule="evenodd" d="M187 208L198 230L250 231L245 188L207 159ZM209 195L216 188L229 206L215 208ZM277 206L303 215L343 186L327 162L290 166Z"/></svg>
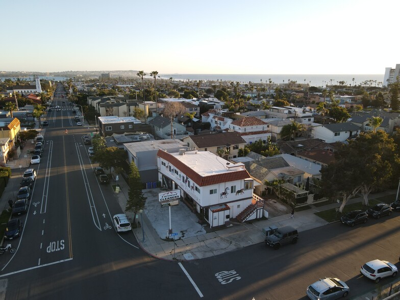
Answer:
<svg viewBox="0 0 400 300"><path fill-rule="evenodd" d="M0 71L383 74L398 0L20 0L1 4Z"/></svg>

